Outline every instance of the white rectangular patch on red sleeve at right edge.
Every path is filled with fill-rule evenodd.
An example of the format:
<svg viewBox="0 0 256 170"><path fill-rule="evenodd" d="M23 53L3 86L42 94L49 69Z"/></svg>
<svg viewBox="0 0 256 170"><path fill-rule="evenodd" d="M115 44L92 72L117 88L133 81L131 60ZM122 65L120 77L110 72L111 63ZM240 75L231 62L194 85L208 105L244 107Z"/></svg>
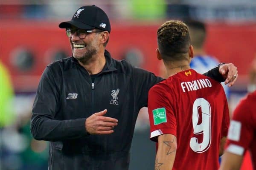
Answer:
<svg viewBox="0 0 256 170"><path fill-rule="evenodd" d="M228 130L227 138L233 141L239 141L241 133L241 122L232 120Z"/></svg>

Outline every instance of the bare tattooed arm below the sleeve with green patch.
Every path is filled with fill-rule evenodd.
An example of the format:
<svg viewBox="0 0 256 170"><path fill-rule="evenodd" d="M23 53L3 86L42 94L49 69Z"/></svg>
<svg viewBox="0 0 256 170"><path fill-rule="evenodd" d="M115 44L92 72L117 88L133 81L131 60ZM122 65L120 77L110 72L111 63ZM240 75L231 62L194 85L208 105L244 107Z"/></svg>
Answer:
<svg viewBox="0 0 256 170"><path fill-rule="evenodd" d="M158 136L158 150L154 170L172 170L177 150L177 139L172 134Z"/></svg>

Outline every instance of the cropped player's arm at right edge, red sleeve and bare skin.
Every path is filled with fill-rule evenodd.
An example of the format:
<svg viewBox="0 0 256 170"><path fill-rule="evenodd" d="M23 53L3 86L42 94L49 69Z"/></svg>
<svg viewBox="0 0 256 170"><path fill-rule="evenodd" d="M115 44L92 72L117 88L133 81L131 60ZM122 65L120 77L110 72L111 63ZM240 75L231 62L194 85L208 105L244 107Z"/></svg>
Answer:
<svg viewBox="0 0 256 170"><path fill-rule="evenodd" d="M248 98L243 99L233 112L220 170L239 170L244 153L252 144L255 134L253 116L251 116L254 111L252 103L254 101Z"/></svg>

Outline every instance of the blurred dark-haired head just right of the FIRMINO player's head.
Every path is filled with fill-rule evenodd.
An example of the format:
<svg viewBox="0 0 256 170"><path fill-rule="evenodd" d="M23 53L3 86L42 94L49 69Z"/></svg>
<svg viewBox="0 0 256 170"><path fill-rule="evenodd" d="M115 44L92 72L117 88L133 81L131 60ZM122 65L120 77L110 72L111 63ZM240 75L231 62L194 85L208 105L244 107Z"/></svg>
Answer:
<svg viewBox="0 0 256 170"><path fill-rule="evenodd" d="M196 20L186 21L189 27L191 44L194 48L203 48L204 40L206 37L206 28L204 23Z"/></svg>

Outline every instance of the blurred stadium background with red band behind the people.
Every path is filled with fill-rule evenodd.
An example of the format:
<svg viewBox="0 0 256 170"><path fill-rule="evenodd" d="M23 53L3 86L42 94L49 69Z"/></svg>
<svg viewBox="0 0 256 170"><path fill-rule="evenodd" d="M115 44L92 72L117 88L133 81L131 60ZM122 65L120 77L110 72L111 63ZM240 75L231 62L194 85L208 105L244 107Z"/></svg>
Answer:
<svg viewBox="0 0 256 170"><path fill-rule="evenodd" d="M92 4L111 20L107 50L113 58L127 59L160 76L162 65L155 57L157 28L171 19L199 20L206 23L207 54L238 67L239 79L230 88L230 111L256 86L255 0L1 0L1 170L47 170L47 142L32 139L29 129L35 91L46 65L71 55L58 24L70 20L80 6ZM143 108L131 147L130 170L153 170L154 156ZM250 170L248 156L242 169Z"/></svg>

